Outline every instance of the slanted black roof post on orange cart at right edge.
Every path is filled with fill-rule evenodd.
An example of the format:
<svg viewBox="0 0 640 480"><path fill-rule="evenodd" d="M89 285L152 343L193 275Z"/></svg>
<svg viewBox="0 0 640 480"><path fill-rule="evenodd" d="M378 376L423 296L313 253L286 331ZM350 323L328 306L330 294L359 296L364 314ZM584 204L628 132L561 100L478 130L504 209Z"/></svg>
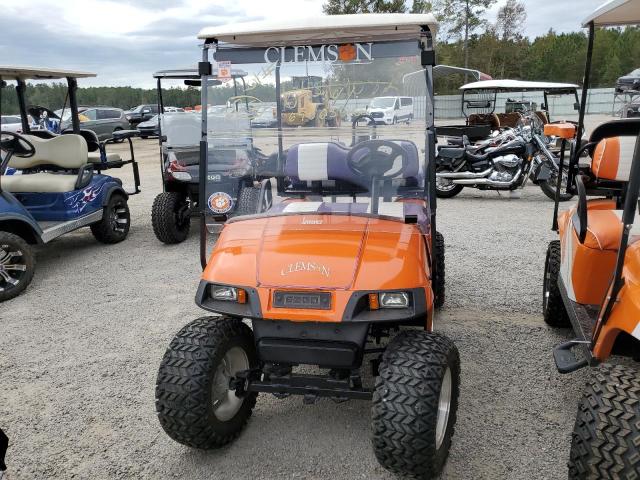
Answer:
<svg viewBox="0 0 640 480"><path fill-rule="evenodd" d="M622 211L622 238L620 239L620 248L618 248L618 256L616 257L616 269L613 272L613 280L611 287L605 298L605 301L598 315L598 323L593 333L593 339L598 338L600 330L607 323L611 310L616 303L618 293L624 284L622 278L622 269L624 267L624 257L627 253L629 244L629 232L633 227L633 221L636 216L636 208L638 206L638 194L640 192L640 135L636 137L636 147L633 151L633 160L631 163L631 171L629 172L629 184L624 200L624 210ZM594 345L592 344L593 348Z"/></svg>

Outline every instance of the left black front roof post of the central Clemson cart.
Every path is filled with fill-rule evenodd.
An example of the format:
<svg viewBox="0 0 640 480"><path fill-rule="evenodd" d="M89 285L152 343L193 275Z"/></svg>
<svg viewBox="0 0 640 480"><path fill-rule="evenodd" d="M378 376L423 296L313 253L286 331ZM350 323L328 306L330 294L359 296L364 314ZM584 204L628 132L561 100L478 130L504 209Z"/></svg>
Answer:
<svg viewBox="0 0 640 480"><path fill-rule="evenodd" d="M201 104L202 104L202 123L200 133L200 181L198 182L198 207L200 210L200 265L202 270L207 266L207 104L209 89L209 77L211 76L212 68L211 62L209 62L209 49L212 48L215 51L218 42L216 40L207 40L202 49L202 62L198 65L198 71L202 78L202 88L200 88ZM202 178L205 181L202 181Z"/></svg>

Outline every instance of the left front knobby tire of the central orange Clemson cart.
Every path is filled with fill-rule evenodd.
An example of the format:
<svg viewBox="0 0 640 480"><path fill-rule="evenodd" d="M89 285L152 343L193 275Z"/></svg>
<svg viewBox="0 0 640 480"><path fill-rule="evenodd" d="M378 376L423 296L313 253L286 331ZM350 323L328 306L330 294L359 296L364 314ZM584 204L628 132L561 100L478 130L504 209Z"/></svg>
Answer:
<svg viewBox="0 0 640 480"><path fill-rule="evenodd" d="M158 371L156 411L162 428L176 442L218 448L234 440L247 424L256 393L247 394L227 419L219 418L214 405L218 372L224 370L224 360L233 349L244 352L248 368L257 367L253 332L236 318L199 318L171 341Z"/></svg>

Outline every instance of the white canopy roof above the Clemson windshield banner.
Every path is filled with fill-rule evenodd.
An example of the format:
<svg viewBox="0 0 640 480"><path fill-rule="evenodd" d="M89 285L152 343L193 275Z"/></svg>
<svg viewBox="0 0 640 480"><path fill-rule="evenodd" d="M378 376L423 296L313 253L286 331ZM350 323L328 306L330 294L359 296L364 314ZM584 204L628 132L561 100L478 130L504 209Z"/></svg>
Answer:
<svg viewBox="0 0 640 480"><path fill-rule="evenodd" d="M426 25L435 35L433 15L362 13L265 20L208 27L198 38L254 47L417 39Z"/></svg>

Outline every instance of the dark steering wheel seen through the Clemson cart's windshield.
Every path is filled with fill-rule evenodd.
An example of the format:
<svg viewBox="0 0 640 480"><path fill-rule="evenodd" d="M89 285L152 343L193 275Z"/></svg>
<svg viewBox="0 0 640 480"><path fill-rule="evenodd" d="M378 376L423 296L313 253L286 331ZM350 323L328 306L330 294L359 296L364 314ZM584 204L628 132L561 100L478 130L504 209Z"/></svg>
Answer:
<svg viewBox="0 0 640 480"><path fill-rule="evenodd" d="M407 151L387 140L365 140L356 144L347 155L347 165L356 175L382 180L394 178L391 171L396 158L407 158Z"/></svg>

